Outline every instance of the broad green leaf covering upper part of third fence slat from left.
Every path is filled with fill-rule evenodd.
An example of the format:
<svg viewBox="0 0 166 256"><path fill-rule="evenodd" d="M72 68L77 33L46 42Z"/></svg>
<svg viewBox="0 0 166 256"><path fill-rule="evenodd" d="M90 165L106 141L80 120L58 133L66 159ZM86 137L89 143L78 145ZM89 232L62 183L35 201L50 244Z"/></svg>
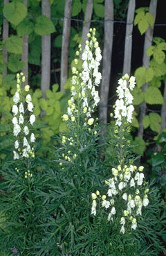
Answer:
<svg viewBox="0 0 166 256"><path fill-rule="evenodd" d="M38 35L48 35L55 32L55 26L53 22L50 21L45 15L37 17L37 22L35 24L35 33Z"/></svg>

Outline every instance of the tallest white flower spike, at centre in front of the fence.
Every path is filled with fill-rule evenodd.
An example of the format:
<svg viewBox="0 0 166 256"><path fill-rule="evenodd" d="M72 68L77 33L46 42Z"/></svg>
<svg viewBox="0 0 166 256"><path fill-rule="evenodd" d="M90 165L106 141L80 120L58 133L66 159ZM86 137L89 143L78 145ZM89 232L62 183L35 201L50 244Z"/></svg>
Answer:
<svg viewBox="0 0 166 256"><path fill-rule="evenodd" d="M67 114L64 114L62 118L64 121L67 121L69 118L71 121L75 121L81 113L89 119L87 123L91 126L94 121L91 113L94 112L95 107L100 101L95 86L100 84L102 78L99 72L102 55L95 37L95 28L90 28L87 36L89 40L86 40L86 46L82 53L81 71L76 68L78 61L81 60L74 60L75 67L72 68L71 99L68 100ZM82 51L81 45L79 45L79 49L79 51L76 51L77 56Z"/></svg>

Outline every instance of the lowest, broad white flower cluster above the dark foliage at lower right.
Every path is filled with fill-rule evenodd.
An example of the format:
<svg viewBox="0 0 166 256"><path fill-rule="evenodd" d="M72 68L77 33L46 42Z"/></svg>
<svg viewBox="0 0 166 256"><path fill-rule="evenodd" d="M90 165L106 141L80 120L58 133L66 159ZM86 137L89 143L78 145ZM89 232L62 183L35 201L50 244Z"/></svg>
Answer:
<svg viewBox="0 0 166 256"><path fill-rule="evenodd" d="M137 219L136 216L142 214L142 207L146 207L149 204L147 193L149 189L142 191L142 185L144 183L144 174L142 173L143 167L136 167L132 164L127 167L112 168L112 178L105 180L109 189L107 196L100 196L100 192L91 194L93 203L91 208L91 214L96 214L96 198L102 199L102 207L106 210L111 209L108 214L108 221L113 221L116 212L122 210L122 216L120 218L121 229L120 232L124 234L125 224L131 223L131 230L136 230Z"/></svg>

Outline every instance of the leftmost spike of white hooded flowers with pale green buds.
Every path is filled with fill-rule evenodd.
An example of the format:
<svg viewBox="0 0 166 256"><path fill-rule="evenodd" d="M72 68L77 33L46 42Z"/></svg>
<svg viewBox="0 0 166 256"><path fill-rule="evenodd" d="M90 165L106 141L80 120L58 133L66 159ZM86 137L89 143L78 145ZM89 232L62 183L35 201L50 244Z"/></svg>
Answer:
<svg viewBox="0 0 166 256"><path fill-rule="evenodd" d="M25 82L26 78L23 73L17 74L17 91L13 96L14 105L12 106L12 123L13 135L17 137L15 140L15 151L13 151L14 159L20 157L35 157L34 148L31 144L35 142L34 133L30 133L28 123L33 125L35 122L35 114L33 114L33 103L30 94L22 93L21 83ZM24 92L29 92L30 86L24 87ZM27 113L30 113L30 117ZM28 120L27 120L28 119Z"/></svg>

